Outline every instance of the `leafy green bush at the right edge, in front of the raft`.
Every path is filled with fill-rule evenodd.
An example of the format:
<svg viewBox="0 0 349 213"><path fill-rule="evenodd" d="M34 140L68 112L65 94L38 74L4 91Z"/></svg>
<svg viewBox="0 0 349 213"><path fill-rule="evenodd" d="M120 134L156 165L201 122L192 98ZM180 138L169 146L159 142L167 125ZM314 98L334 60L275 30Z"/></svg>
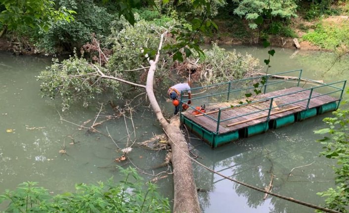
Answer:
<svg viewBox="0 0 349 213"><path fill-rule="evenodd" d="M328 134L318 141L325 150L321 152L321 155L336 160L337 166L334 166L333 170L338 186L317 194L327 197L325 202L328 208L347 213L349 205L349 110L338 109L333 112L333 115L334 117L323 120L329 128L317 130L315 133Z"/></svg>

